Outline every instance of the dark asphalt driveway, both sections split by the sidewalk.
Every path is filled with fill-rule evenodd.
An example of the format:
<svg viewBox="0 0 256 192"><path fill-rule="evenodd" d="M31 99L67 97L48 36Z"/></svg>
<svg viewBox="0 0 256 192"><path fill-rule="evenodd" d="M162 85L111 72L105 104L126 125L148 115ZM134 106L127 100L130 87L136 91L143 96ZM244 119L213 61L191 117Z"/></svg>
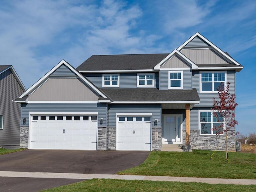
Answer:
<svg viewBox="0 0 256 192"><path fill-rule="evenodd" d="M0 155L0 171L115 174L140 165L149 152L24 150ZM80 179L1 177L0 191L38 192Z"/></svg>

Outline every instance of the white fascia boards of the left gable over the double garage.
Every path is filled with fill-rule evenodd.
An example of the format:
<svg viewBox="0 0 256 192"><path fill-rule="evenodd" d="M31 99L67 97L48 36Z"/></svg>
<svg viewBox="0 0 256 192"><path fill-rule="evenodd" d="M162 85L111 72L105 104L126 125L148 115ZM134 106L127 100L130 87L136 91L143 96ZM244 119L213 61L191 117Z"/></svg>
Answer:
<svg viewBox="0 0 256 192"><path fill-rule="evenodd" d="M57 70L62 64L66 65L72 72L74 72L74 74L76 74L81 80L83 80L86 84L88 84L88 86L90 86L94 91L96 91L98 94L100 94L102 97L107 98L102 92L100 92L100 90L98 90L96 88L96 86L94 86L91 82L89 82L88 80L86 80L86 78L84 78L84 76L82 76L82 74L78 73L73 67L70 66L70 64L68 64L65 60L62 60L61 62L59 62L54 68L52 68L48 73L46 73L42 78L40 78L40 80L38 80L34 85L32 85L28 90L26 90L26 92L24 92L20 97L18 98L22 98L25 95L27 95L31 90L33 90L34 88L36 88L36 86L38 86L41 82L43 82L44 80L46 80L46 78L48 78L50 76L50 74L52 74L55 70Z"/></svg>

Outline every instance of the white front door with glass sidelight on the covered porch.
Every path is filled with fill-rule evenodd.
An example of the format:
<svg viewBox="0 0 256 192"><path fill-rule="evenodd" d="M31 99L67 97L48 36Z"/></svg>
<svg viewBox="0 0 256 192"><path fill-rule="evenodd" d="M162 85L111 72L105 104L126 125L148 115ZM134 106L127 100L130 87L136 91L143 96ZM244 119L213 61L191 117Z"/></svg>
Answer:
<svg viewBox="0 0 256 192"><path fill-rule="evenodd" d="M164 144L182 144L182 114L163 114Z"/></svg>

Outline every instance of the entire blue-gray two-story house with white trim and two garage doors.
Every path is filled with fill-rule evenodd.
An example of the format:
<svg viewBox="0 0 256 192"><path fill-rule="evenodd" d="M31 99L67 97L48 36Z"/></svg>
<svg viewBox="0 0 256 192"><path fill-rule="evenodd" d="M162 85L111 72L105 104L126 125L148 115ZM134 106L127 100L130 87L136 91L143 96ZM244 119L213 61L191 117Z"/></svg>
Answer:
<svg viewBox="0 0 256 192"><path fill-rule="evenodd" d="M212 98L220 82L230 82L235 93L242 68L199 33L170 54L97 55L76 69L62 60L16 100L22 103L20 146L216 149L225 136L212 130L218 124ZM234 136L228 146L235 150Z"/></svg>

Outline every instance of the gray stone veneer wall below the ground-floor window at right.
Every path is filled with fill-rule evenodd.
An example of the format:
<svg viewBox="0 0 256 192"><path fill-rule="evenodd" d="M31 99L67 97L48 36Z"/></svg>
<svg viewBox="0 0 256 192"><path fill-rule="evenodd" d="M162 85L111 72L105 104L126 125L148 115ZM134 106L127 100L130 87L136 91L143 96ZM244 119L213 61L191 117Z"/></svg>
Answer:
<svg viewBox="0 0 256 192"><path fill-rule="evenodd" d="M190 145L192 149L226 150L226 136L203 136L200 130L190 130ZM222 144L220 144L222 142ZM235 131L228 131L228 150L236 150Z"/></svg>

